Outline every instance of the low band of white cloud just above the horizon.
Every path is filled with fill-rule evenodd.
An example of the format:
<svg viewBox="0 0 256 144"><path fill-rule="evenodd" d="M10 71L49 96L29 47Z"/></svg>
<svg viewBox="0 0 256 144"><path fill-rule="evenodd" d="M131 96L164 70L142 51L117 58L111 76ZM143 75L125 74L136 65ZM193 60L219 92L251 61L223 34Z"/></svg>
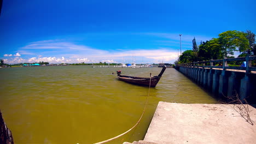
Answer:
<svg viewBox="0 0 256 144"><path fill-rule="evenodd" d="M97 50L95 50L97 51ZM177 59L177 52L169 51L167 49L161 48L159 50L136 50L136 51L118 51L118 52L106 52L104 57L100 53L94 53L89 57L84 57L85 55L75 55L72 57L65 58L61 57L31 57L28 59L23 59L20 57L10 58L5 61L9 64L14 63L38 63L38 62L49 62L49 63L121 63L123 61L130 62L132 58L135 58L135 63L143 62L147 63L158 63L158 62L174 62ZM109 59L108 59L109 58ZM111 58L111 59L110 59ZM137 61L136 61L137 60Z"/></svg>

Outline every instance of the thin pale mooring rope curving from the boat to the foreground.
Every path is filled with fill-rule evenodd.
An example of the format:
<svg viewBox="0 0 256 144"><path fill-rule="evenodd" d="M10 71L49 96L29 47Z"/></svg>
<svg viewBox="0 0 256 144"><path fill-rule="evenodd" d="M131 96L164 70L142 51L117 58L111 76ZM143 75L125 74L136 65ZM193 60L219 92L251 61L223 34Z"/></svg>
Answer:
<svg viewBox="0 0 256 144"><path fill-rule="evenodd" d="M151 85L151 77L152 77L152 76L151 76L151 73L150 73L149 88L148 88L148 96L147 96L147 100L146 100L146 103L145 103L145 106L144 106L144 110L143 110L143 112L142 112L142 114L141 114L141 117L139 118L138 122L137 122L132 128L130 128L129 130L125 131L123 134L120 134L120 135L118 135L118 136L112 137L111 139L104 140L104 141L97 142L97 143L93 143L93 144L106 143L106 142L112 141L112 140L114 140L114 139L117 139L118 137L127 134L129 131L131 131L133 128L135 128L135 127L138 125L139 122L141 122L141 118L142 118L142 116L144 115L144 112L145 112L145 110L146 110L146 106L147 106L147 104L148 104L148 97L149 97L149 91L150 91L150 85Z"/></svg>

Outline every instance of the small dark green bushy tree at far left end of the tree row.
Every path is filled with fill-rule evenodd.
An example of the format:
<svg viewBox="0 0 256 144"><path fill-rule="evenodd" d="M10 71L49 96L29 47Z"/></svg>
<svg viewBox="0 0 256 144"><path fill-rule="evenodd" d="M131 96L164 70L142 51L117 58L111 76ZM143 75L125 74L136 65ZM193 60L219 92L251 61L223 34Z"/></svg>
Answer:
<svg viewBox="0 0 256 144"><path fill-rule="evenodd" d="M179 56L180 63L191 63L195 61L197 61L197 52L194 52L193 50L184 51L182 55Z"/></svg>

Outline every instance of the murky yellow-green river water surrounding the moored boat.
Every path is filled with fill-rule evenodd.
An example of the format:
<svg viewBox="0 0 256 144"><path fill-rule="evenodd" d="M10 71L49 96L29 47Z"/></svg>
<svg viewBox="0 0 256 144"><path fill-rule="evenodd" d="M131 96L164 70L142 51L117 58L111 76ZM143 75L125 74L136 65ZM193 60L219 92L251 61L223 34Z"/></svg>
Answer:
<svg viewBox="0 0 256 144"><path fill-rule="evenodd" d="M142 114L148 87L119 81L112 71L149 77L161 68L91 68L90 66L0 69L0 109L15 143L95 143L133 127ZM159 101L217 103L208 93L167 68L155 88L141 123L109 143L143 140Z"/></svg>

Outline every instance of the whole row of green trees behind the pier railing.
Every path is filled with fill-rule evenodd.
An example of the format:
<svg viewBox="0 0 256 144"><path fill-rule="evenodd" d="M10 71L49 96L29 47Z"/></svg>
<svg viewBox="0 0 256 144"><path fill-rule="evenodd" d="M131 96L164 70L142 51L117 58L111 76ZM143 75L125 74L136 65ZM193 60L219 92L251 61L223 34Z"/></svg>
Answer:
<svg viewBox="0 0 256 144"><path fill-rule="evenodd" d="M255 34L251 31L226 31L218 38L201 41L197 46L195 38L192 40L193 49L186 50L179 56L176 63L190 63L208 61L210 59L234 58L234 52L240 52L238 57L246 55L256 56Z"/></svg>

